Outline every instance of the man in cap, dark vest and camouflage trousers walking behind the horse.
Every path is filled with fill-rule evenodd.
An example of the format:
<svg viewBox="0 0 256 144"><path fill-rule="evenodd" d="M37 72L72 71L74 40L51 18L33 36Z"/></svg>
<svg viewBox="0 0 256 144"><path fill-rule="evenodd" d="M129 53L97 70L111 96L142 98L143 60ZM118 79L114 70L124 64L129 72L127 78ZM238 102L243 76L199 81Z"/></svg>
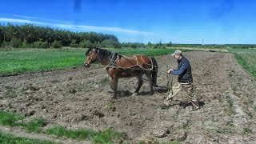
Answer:
<svg viewBox="0 0 256 144"><path fill-rule="evenodd" d="M174 54L171 54L177 59L178 62L178 70L167 70L168 74L178 75L178 82L174 83L172 87L171 93L166 98L164 102L165 105L162 108L169 108L170 102L174 98L176 94L182 89L186 90L186 93L189 94L190 100L192 102L193 110L198 110L200 108L198 104L198 99L194 94L194 86L193 86L193 78L192 78L192 70L190 66L190 62L182 55L181 50L175 50Z"/></svg>

